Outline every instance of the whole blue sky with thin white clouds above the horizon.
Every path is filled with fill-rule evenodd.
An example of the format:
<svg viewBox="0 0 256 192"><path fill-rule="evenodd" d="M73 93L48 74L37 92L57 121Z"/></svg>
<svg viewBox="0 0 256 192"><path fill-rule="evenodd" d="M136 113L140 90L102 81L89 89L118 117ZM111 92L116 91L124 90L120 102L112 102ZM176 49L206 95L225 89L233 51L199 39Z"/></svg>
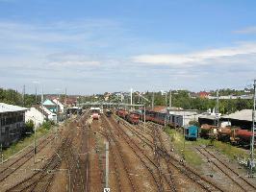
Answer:
<svg viewBox="0 0 256 192"><path fill-rule="evenodd" d="M0 0L0 73L29 92L243 88L256 1Z"/></svg>

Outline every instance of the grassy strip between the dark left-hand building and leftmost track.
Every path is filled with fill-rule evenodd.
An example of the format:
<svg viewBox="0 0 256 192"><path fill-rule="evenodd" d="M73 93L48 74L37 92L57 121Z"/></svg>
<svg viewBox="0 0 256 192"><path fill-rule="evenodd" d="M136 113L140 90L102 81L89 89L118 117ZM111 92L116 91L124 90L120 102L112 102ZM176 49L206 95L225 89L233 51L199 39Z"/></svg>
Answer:
<svg viewBox="0 0 256 192"><path fill-rule="evenodd" d="M40 138L43 135L50 132L49 129L40 128L37 130L36 138ZM3 151L4 160L13 156L14 154L18 153L20 150L24 149L25 147L31 145L34 142L34 133L24 137L17 142L14 142L9 148Z"/></svg>

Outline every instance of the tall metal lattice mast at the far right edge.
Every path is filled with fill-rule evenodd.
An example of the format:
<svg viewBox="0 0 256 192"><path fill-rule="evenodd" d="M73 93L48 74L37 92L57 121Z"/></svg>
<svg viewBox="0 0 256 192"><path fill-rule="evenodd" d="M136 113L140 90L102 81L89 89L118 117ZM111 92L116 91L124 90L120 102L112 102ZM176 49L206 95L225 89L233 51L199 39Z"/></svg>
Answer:
<svg viewBox="0 0 256 192"><path fill-rule="evenodd" d="M254 80L254 95L253 95L253 110L252 110L252 128L251 128L251 140L250 140L250 159L249 159L249 176L253 177L254 167L254 134L255 134L255 103L256 103L256 80Z"/></svg>

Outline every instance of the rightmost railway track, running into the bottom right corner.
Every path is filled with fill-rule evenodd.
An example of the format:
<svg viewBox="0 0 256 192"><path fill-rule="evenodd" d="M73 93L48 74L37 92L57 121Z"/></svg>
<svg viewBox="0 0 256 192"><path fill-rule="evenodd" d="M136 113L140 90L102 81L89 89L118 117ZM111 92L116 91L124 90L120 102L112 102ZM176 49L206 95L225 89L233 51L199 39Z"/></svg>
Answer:
<svg viewBox="0 0 256 192"><path fill-rule="evenodd" d="M256 187L251 184L248 180L245 180L226 163L218 159L217 156L209 152L205 147L197 147L196 150L204 157L209 159L226 177L232 180L238 187L243 191L256 191Z"/></svg>

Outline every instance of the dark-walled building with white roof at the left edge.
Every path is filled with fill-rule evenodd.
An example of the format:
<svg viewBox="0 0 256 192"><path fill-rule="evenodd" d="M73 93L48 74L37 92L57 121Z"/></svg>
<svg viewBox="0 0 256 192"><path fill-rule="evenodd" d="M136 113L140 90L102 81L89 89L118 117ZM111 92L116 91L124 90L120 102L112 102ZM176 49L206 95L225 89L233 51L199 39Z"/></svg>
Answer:
<svg viewBox="0 0 256 192"><path fill-rule="evenodd" d="M21 137L27 109L0 103L0 144L3 147L9 147Z"/></svg>

